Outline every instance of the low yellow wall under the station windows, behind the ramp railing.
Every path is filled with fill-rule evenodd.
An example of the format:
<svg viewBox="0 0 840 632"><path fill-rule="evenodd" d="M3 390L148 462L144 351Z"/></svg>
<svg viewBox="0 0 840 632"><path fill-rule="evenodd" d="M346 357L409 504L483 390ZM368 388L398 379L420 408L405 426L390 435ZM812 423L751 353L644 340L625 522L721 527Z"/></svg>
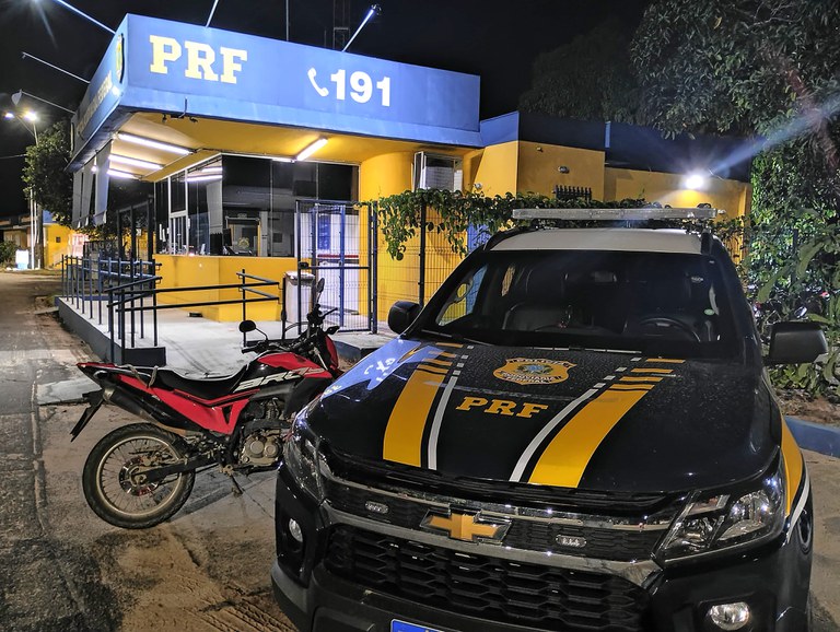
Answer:
<svg viewBox="0 0 840 632"><path fill-rule="evenodd" d="M159 288L186 288L197 285L226 285L240 283L236 272L243 269L246 274L262 277L282 283L288 271L298 269L295 259L291 257L186 257L183 255L158 255L160 264L158 274L163 277ZM250 281L253 282L253 281ZM269 294L280 293L280 285L255 288ZM158 301L167 304L199 303L202 301L238 301L238 290L200 290L194 292L172 292L160 294ZM249 297L256 297L250 295ZM278 320L280 303L249 303L247 317L252 320ZM200 312L205 318L212 320L235 321L242 319L242 304L215 305L186 308Z"/></svg>

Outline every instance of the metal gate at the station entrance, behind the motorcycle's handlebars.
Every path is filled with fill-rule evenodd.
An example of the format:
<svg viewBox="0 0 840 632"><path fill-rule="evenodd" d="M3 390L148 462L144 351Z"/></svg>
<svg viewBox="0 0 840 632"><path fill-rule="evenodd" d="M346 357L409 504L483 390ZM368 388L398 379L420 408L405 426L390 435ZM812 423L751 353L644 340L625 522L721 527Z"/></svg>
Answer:
<svg viewBox="0 0 840 632"><path fill-rule="evenodd" d="M312 290L341 331L376 332L376 215L350 201L295 201L298 273L285 281L287 321L305 320ZM300 327L299 327L300 330Z"/></svg>

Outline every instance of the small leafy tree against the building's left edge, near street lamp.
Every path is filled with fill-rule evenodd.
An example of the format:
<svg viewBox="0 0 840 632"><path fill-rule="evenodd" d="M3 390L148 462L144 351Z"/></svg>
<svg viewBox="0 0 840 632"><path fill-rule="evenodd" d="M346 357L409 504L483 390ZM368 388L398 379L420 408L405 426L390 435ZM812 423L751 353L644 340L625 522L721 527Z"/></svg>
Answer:
<svg viewBox="0 0 840 632"><path fill-rule="evenodd" d="M70 126L59 121L26 148L23 182L35 202L48 210L65 226L72 219L73 178L66 168L70 162Z"/></svg>

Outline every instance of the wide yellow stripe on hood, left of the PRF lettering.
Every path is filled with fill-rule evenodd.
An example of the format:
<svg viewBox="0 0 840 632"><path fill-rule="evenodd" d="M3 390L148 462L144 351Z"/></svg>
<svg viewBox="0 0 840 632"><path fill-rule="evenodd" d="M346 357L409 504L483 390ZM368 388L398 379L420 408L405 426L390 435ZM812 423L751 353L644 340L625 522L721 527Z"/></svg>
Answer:
<svg viewBox="0 0 840 632"><path fill-rule="evenodd" d="M445 376L423 370L411 374L390 411L382 458L420 467L425 421Z"/></svg>

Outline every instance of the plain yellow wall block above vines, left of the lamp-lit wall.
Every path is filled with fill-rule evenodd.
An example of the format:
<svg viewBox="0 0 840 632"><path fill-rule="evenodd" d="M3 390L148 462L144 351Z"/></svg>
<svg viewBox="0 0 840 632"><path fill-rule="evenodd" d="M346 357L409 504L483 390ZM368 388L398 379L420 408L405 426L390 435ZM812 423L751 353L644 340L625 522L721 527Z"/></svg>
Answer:
<svg viewBox="0 0 840 632"><path fill-rule="evenodd" d="M604 199L604 152L522 141L515 189L518 192L555 195L555 185L588 187L592 197ZM569 173L560 173L560 167Z"/></svg>

